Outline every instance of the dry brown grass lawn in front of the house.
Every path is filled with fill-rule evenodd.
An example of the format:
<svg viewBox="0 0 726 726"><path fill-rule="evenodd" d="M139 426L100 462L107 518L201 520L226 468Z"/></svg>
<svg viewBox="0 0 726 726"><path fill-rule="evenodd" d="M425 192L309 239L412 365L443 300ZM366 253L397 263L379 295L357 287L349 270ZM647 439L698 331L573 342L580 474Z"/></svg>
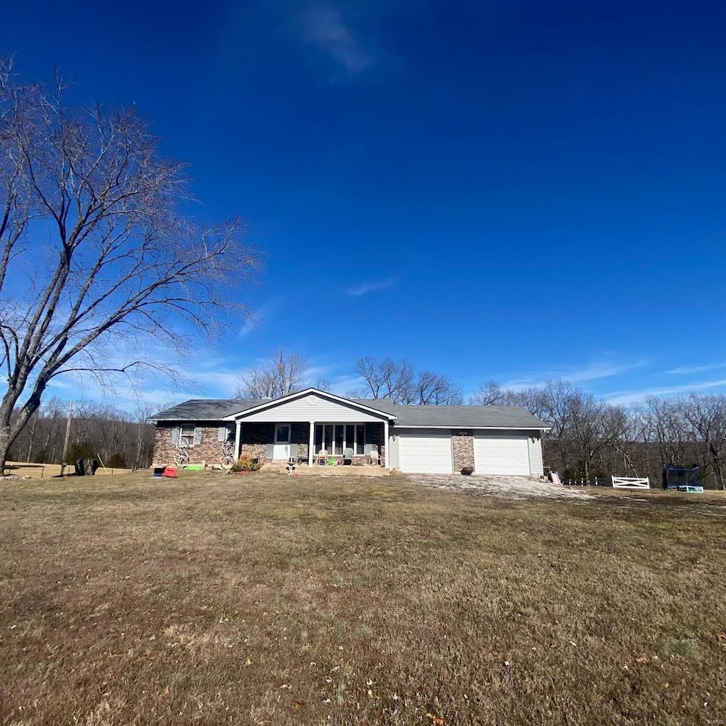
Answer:
<svg viewBox="0 0 726 726"><path fill-rule="evenodd" d="M0 722L723 719L724 500L647 498L6 481Z"/></svg>

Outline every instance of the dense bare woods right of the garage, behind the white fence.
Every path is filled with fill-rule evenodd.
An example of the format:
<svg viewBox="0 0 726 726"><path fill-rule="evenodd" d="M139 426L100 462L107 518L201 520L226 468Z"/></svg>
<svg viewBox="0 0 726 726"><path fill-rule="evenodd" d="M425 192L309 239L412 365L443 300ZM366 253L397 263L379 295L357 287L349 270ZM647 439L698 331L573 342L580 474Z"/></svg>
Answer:
<svg viewBox="0 0 726 726"><path fill-rule="evenodd" d="M512 391L485 383L470 401L521 406L550 425L545 463L563 481L600 476L648 476L661 481L665 464L701 468L706 486L725 489L726 395L690 393L617 406L563 380Z"/></svg>

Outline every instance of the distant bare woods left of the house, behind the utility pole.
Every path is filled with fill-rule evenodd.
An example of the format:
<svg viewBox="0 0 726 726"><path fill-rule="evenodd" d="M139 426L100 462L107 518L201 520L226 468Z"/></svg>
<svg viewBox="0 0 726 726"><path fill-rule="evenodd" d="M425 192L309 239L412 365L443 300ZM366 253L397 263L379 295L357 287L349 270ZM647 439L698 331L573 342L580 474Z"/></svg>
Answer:
<svg viewBox="0 0 726 726"><path fill-rule="evenodd" d="M154 426L150 409L129 415L110 406L76 403L70 423L68 463L98 459L108 468L142 469L152 463ZM50 399L28 420L12 444L8 460L62 463L68 401Z"/></svg>

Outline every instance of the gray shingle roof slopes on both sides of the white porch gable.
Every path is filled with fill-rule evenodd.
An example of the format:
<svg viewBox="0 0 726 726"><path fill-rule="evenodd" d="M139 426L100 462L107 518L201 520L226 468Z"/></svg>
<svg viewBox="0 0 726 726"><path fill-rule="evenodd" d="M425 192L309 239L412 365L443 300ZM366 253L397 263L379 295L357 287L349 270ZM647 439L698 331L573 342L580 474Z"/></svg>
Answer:
<svg viewBox="0 0 726 726"><path fill-rule="evenodd" d="M220 421L272 399L191 399L150 416L152 421ZM549 428L518 406L405 406L387 399L351 399L396 416L394 425L431 428Z"/></svg>

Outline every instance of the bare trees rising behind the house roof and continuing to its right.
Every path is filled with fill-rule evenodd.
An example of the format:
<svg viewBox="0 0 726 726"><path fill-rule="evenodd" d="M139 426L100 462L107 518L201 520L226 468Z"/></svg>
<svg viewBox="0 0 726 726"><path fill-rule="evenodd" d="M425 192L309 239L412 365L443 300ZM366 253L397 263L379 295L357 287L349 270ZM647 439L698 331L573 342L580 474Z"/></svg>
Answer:
<svg viewBox="0 0 726 726"><path fill-rule="evenodd" d="M400 404L462 404L462 387L445 375L417 371L407 359L364 356L353 371L362 385L348 398L388 399ZM306 359L274 351L259 367L240 377L237 396L282 396L311 380ZM648 476L657 486L665 464L698 466L706 486L726 489L726 396L691 393L677 398L650 396L619 406L597 399L564 380L513 390L483 383L468 403L521 406L550 425L544 436L544 463L563 481L602 476Z"/></svg>

